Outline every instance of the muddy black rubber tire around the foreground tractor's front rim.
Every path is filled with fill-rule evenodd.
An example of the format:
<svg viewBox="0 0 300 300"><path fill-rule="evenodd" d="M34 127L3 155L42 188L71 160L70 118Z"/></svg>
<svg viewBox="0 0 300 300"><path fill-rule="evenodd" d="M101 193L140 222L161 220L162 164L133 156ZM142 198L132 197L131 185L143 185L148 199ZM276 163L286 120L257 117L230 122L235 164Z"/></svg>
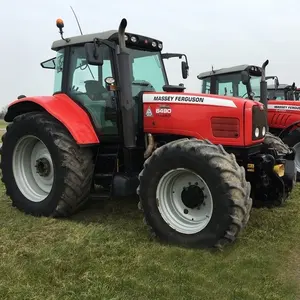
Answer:
<svg viewBox="0 0 300 300"><path fill-rule="evenodd" d="M177 168L200 176L212 196L213 209L208 224L191 234L178 230L175 223L169 222L169 225L158 207L163 201L168 201L157 199L161 179ZM228 154L220 145L197 139L168 143L156 149L145 161L139 180L139 208L144 212L144 221L152 236L162 241L188 247L221 248L235 241L248 222L252 207L250 184L234 155Z"/></svg>

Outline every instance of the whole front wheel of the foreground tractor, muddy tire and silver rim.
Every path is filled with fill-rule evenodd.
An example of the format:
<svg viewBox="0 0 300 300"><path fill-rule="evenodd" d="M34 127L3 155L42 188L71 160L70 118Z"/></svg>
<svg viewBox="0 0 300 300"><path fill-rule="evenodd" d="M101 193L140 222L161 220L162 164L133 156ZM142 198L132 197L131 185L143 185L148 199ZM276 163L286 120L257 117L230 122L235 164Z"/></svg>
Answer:
<svg viewBox="0 0 300 300"><path fill-rule="evenodd" d="M222 248L248 222L250 184L222 146L197 139L168 143L145 161L139 179L139 207L162 241Z"/></svg>

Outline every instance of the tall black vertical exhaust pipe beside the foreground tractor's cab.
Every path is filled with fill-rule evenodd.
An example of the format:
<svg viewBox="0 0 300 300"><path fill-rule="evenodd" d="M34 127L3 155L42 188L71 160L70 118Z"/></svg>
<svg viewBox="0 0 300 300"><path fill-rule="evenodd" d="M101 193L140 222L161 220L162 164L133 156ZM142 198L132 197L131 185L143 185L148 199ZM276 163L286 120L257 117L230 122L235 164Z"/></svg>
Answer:
<svg viewBox="0 0 300 300"><path fill-rule="evenodd" d="M129 53L126 51L125 29L127 20L122 19L119 30L119 79L120 79L120 106L122 112L123 138L125 148L136 147L135 122L134 122L134 102L131 90L132 67Z"/></svg>

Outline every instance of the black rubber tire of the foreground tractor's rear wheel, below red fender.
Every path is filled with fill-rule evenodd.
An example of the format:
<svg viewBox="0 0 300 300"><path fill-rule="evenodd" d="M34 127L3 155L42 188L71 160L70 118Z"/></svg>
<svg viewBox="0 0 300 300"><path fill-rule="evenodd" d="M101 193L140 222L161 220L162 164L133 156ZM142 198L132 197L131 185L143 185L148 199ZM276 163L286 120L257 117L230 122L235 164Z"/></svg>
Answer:
<svg viewBox="0 0 300 300"><path fill-rule="evenodd" d="M29 140L28 136L31 136L33 141L36 138L36 141L42 142L40 144L44 145L43 149L49 151L53 164L52 188L50 187L51 190L45 194L42 201L33 199L34 197L29 199L28 195L31 194L25 193L28 198L24 195L22 190L25 191L26 187L20 183L22 180L16 180L16 176L21 175L16 171L18 170L16 165L13 168L16 145L18 142L21 143L22 139ZM2 142L0 165L2 182L13 206L35 216L66 217L87 201L94 171L91 150L80 148L64 126L53 117L43 112L20 115L8 125ZM19 170L24 173L26 168L30 168L30 164L26 161L23 163L25 168L23 166Z"/></svg>

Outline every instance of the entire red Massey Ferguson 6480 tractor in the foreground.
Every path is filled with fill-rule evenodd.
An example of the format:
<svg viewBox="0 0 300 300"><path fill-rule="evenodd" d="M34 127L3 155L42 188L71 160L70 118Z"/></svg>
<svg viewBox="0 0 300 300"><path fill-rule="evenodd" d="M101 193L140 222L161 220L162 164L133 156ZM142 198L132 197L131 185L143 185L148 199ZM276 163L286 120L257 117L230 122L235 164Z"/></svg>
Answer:
<svg viewBox="0 0 300 300"><path fill-rule="evenodd" d="M162 42L125 33L126 19L118 31L70 38L57 26L56 57L41 64L55 72L53 95L23 95L5 116L1 170L13 206L67 217L95 192L138 194L154 236L206 248L236 239L252 201L286 200L294 152L279 139L286 152L266 146L261 103L169 85Z"/></svg>

